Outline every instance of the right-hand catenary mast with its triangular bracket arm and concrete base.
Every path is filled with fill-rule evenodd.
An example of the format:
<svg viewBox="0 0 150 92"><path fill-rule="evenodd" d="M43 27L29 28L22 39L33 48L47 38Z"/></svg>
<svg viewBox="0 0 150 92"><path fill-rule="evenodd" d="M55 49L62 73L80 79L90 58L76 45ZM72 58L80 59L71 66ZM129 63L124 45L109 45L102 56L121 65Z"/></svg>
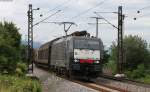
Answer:
<svg viewBox="0 0 150 92"><path fill-rule="evenodd" d="M124 64L124 50L123 50L123 24L125 15L122 14L122 6L118 7L118 12L94 12L96 15L100 16L98 13L115 13L118 14L118 27L110 23L104 17L102 17L108 24L112 25L118 30L118 46L117 46L117 73L115 77L124 77L123 74L123 64Z"/></svg>

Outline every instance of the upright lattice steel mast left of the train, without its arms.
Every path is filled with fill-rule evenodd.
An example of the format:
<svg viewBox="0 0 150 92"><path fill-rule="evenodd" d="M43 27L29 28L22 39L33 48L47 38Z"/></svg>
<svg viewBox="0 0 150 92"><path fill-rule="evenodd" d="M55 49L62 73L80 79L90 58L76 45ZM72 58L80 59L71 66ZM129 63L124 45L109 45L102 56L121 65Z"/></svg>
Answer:
<svg viewBox="0 0 150 92"><path fill-rule="evenodd" d="M31 67L29 66L31 63ZM28 10L28 71L33 73L33 11L32 4Z"/></svg>

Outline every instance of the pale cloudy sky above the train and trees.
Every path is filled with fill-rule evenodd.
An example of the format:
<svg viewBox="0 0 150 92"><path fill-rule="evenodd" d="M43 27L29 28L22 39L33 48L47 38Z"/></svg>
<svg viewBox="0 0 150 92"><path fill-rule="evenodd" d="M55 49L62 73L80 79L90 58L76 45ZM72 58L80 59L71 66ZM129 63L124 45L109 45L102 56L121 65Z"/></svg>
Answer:
<svg viewBox="0 0 150 92"><path fill-rule="evenodd" d="M117 26L117 14L102 12L117 12L118 6L122 6L126 16L124 35L138 35L150 43L150 0L0 0L0 21L14 22L20 28L22 40L27 40L29 4L33 5L33 9L40 8L33 11L33 24L61 10L44 22L74 22L77 25L71 26L68 34L87 30L93 36L96 33L96 20L91 17L98 17L94 12L101 12L99 15ZM140 13L137 13L138 10ZM40 17L40 14L43 16ZM98 37L109 47L117 40L117 30L103 19L99 23ZM34 41L40 43L65 35L63 25L54 23L40 23L33 29Z"/></svg>

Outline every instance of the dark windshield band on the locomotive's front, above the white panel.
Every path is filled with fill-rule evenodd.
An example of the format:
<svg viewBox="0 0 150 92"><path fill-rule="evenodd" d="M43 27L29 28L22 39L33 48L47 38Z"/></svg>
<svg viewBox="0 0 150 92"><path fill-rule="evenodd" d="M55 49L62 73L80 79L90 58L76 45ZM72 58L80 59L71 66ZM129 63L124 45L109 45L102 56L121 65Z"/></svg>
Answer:
<svg viewBox="0 0 150 92"><path fill-rule="evenodd" d="M99 50L99 41L94 40L75 40L74 48Z"/></svg>

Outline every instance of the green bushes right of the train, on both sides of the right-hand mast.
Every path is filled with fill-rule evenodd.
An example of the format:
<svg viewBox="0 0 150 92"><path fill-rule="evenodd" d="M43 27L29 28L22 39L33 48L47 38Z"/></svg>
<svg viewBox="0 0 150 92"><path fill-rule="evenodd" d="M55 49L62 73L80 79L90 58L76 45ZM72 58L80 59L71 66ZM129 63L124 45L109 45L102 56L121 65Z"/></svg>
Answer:
<svg viewBox="0 0 150 92"><path fill-rule="evenodd" d="M125 36L123 39L124 62L123 73L132 80L150 83L150 47L139 36ZM111 74L117 73L117 44L110 48L110 57L104 64L104 68L111 70ZM107 55L108 56L108 55Z"/></svg>

